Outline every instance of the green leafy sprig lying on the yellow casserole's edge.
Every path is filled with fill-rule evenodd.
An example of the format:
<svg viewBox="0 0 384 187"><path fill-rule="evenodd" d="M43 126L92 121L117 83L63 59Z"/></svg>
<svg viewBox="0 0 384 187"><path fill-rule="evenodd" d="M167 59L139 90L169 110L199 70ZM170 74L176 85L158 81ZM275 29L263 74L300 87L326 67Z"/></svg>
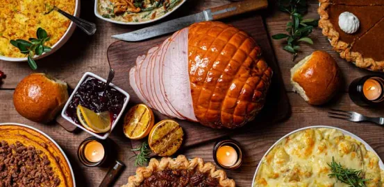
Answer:
<svg viewBox="0 0 384 187"><path fill-rule="evenodd" d="M10 44L19 48L20 53L28 55L28 64L31 66L31 69L37 69L37 64L33 57L35 55L42 55L42 53L48 53L52 50L49 46L44 46L45 42L48 42L50 37L43 28L37 28L36 31L37 38L29 38L29 41L24 39L10 40Z"/></svg>

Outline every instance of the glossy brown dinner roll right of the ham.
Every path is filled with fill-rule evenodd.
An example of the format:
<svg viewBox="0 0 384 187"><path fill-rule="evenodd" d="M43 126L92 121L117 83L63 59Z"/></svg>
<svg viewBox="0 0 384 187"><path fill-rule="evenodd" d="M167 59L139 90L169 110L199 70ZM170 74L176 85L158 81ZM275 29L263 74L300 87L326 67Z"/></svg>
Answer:
<svg viewBox="0 0 384 187"><path fill-rule="evenodd" d="M291 69L291 82L310 105L322 105L339 89L340 69L331 55L315 51Z"/></svg>

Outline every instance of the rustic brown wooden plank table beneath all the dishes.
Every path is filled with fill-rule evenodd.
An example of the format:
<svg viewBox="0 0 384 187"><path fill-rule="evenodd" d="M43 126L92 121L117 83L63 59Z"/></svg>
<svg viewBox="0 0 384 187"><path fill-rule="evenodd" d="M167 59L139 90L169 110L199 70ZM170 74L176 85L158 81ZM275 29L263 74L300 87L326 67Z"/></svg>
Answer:
<svg viewBox="0 0 384 187"><path fill-rule="evenodd" d="M224 3L229 3L229 1L190 0L167 19L197 12L205 8L219 6ZM288 21L288 16L285 13L279 12L274 3L274 1L271 1L268 10L258 12L265 18L267 30L270 35L284 33L285 24ZM306 17L318 18L317 1L310 0L309 4L309 12ZM65 80L70 87L76 86L78 80L86 71L97 73L103 77L107 76L108 65L106 50L112 42L115 42L115 39L112 39L110 35L126 33L130 30L137 29L137 27L120 26L97 19L97 17L94 16L92 7L93 2L83 1L81 3L81 17L96 23L98 28L97 33L94 36L87 36L82 33L81 30L77 29L67 44L62 46L59 51L37 62L39 69L36 72L49 73L56 78ZM371 123L350 123L326 116L327 110L331 107L353 110L369 116L383 116L384 109L358 107L350 100L347 93L347 86L353 79L368 75L372 72L358 69L353 66L353 64L340 59L339 55L332 50L331 45L322 35L319 28L314 30L312 38L315 44L312 46L306 44L301 45L301 53L299 53L299 57L297 57L295 62L292 62L290 53L283 51L283 44L280 41L272 41L276 59L283 73L287 95L292 105L292 116L282 123L258 127L253 130L253 132L237 134L231 137L239 141L245 150L242 167L235 171L227 171L228 176L235 179L237 186L251 186L253 173L256 170L258 162L275 141L292 130L310 125L331 125L348 130L367 141L367 143L378 152L380 157L384 158L384 146L382 144L384 141L383 127ZM339 96L334 98L328 105L322 107L308 105L299 95L291 91L292 85L290 84L290 69L292 66L301 58L310 55L310 53L315 50L324 50L331 53L342 69L345 80L344 87ZM76 184L78 186L98 186L104 175L106 175L108 168L87 168L78 161L76 156L79 143L90 135L80 131L75 134L70 134L57 124L43 125L33 123L19 116L12 104L13 90L22 78L29 73L33 73L33 71L28 67L27 63L1 61L0 70L7 75L7 78L3 80L3 84L0 86L0 122L24 123L46 132L60 144L61 148L69 157L69 161L72 163L72 168L74 169ZM119 128L119 126L117 128ZM112 132L110 138L115 141L118 147L117 159L124 161L127 166L115 184L115 186L121 186L122 184L126 184L128 176L133 175L136 170L136 167L133 165L134 160L130 159L133 156L133 153L129 151L131 150L131 143L119 130ZM213 161L213 144L214 142L196 146L181 153L187 157L202 157L205 161Z"/></svg>

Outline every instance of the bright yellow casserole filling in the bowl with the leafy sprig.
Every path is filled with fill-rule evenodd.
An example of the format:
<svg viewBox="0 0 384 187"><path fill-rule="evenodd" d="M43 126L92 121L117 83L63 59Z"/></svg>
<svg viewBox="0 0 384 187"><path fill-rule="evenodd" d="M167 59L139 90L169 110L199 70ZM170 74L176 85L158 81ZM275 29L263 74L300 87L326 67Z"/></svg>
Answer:
<svg viewBox="0 0 384 187"><path fill-rule="evenodd" d="M36 37L37 28L47 30L51 39L47 46L53 46L64 35L71 21L53 11L54 6L74 14L76 0L0 0L0 55L25 57L19 49L10 44L11 39Z"/></svg>

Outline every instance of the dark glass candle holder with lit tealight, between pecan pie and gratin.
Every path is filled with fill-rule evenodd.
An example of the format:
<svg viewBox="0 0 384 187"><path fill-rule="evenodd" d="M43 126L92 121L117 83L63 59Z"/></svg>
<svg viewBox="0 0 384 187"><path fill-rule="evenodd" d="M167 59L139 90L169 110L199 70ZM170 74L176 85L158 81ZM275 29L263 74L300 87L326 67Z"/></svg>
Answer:
<svg viewBox="0 0 384 187"><path fill-rule="evenodd" d="M242 148L233 139L219 141L213 148L213 159L217 166L235 170L242 165Z"/></svg>

